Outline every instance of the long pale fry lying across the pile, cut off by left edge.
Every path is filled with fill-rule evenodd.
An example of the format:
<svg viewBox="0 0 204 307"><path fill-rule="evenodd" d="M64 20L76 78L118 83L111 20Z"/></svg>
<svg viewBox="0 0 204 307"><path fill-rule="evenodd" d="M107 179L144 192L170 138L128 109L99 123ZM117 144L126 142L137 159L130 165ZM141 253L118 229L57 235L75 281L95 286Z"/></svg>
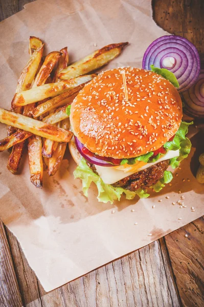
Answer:
<svg viewBox="0 0 204 307"><path fill-rule="evenodd" d="M0 122L56 142L69 142L73 136L71 131L65 131L64 129L7 111L3 108L0 108Z"/></svg>

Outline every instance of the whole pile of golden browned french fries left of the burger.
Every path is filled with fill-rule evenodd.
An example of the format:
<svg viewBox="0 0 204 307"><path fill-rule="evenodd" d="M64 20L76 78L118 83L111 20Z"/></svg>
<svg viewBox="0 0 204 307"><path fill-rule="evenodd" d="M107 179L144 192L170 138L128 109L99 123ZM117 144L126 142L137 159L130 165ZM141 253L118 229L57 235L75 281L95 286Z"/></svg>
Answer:
<svg viewBox="0 0 204 307"><path fill-rule="evenodd" d="M7 168L18 172L25 145L28 146L31 182L42 188L43 170L53 176L60 167L67 142L73 133L66 109L99 69L118 56L128 44L115 43L69 64L67 47L43 57L44 43L31 36L30 60L18 79L11 109L0 108L0 122L8 125L8 137L0 151L8 149Z"/></svg>

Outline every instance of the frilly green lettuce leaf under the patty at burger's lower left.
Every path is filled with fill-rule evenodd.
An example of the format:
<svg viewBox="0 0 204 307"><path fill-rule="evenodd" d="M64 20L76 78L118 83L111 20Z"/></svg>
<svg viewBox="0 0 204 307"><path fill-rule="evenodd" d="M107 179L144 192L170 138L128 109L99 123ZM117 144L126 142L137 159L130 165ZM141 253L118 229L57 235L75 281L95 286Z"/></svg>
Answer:
<svg viewBox="0 0 204 307"><path fill-rule="evenodd" d="M99 202L110 202L112 204L115 200L120 200L122 193L125 193L127 200L132 200L135 195L138 195L140 198L147 198L149 196L146 190L139 189L132 192L120 187L113 187L110 184L105 184L100 176L88 167L84 158L81 159L79 165L75 169L74 177L82 180L82 190L85 196L88 196L90 184L94 182L98 188L97 199Z"/></svg>

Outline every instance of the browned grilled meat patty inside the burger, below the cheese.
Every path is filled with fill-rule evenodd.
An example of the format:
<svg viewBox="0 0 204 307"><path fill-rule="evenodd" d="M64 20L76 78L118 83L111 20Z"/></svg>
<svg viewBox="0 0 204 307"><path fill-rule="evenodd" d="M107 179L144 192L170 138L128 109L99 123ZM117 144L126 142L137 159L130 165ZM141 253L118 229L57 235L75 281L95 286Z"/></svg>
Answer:
<svg viewBox="0 0 204 307"><path fill-rule="evenodd" d="M95 172L96 167L94 164L86 162L87 165ZM126 190L136 191L138 189L145 189L154 185L164 176L164 171L169 166L169 160L158 162L144 170L141 170L137 173L134 173L128 177L123 178L122 180L117 181L112 184L114 187L121 187Z"/></svg>

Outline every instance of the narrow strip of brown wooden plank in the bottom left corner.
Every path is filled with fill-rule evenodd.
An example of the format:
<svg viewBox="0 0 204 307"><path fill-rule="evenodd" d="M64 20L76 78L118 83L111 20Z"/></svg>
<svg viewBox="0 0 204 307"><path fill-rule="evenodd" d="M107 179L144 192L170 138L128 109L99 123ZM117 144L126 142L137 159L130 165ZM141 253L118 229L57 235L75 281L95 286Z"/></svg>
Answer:
<svg viewBox="0 0 204 307"><path fill-rule="evenodd" d="M0 306L22 306L4 225L0 220Z"/></svg>

